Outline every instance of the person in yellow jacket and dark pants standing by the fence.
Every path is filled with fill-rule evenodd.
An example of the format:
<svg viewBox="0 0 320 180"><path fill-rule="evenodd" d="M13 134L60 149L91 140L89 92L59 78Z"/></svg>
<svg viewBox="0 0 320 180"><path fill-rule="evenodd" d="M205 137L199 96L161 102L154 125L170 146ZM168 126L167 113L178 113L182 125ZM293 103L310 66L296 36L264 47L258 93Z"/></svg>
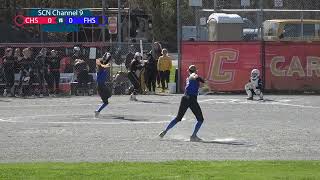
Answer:
<svg viewBox="0 0 320 180"><path fill-rule="evenodd" d="M172 59L170 56L168 56L168 50L163 49L162 56L160 56L158 60L158 71L160 72L162 92L164 92L164 90L168 87L171 67L172 67Z"/></svg>

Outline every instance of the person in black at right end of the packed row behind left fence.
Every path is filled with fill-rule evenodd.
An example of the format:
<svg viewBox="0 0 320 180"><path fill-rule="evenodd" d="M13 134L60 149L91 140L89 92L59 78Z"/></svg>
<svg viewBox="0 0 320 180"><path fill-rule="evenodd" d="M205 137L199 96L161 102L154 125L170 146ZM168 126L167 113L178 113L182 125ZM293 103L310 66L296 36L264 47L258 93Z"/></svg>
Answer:
<svg viewBox="0 0 320 180"><path fill-rule="evenodd" d="M59 94L59 83L60 83L60 60L58 52L51 50L50 57L48 58L48 72L49 72L49 94L54 96Z"/></svg>

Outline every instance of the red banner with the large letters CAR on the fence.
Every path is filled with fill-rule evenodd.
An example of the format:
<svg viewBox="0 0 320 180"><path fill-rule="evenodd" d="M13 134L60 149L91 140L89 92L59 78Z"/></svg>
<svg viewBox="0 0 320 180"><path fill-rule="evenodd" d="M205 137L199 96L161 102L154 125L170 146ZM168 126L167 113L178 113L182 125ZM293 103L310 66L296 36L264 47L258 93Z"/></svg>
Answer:
<svg viewBox="0 0 320 180"><path fill-rule="evenodd" d="M266 43L266 89L320 90L320 43Z"/></svg>

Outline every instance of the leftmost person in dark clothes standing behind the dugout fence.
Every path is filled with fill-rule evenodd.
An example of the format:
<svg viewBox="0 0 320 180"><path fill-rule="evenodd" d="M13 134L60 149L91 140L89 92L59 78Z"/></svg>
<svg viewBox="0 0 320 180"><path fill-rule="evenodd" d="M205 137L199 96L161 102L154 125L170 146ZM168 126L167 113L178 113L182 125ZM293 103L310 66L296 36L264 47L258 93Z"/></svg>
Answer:
<svg viewBox="0 0 320 180"><path fill-rule="evenodd" d="M3 59L3 70L6 87L3 92L3 96L14 96L14 56L13 49L7 48Z"/></svg>

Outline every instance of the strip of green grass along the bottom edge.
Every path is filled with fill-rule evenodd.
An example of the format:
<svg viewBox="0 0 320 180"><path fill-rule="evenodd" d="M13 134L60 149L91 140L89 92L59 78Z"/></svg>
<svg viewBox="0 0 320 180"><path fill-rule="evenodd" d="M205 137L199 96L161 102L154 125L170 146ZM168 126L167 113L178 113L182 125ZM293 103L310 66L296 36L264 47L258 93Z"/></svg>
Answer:
<svg viewBox="0 0 320 180"><path fill-rule="evenodd" d="M320 161L9 163L0 179L320 179Z"/></svg>

